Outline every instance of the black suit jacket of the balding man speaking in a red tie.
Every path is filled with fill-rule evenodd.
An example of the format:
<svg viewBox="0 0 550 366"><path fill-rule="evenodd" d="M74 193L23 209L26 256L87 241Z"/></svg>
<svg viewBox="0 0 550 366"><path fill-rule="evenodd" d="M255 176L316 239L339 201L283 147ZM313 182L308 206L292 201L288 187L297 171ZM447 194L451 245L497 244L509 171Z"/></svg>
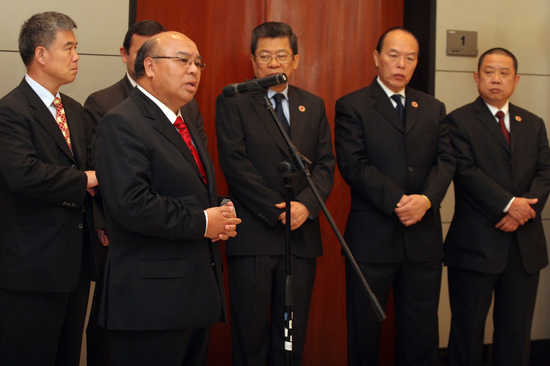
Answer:
<svg viewBox="0 0 550 366"><path fill-rule="evenodd" d="M98 125L96 172L109 229L98 321L108 329L225 320L219 244L204 238L203 210L218 205L216 178L199 132L188 128L208 186L178 130L138 88Z"/></svg>

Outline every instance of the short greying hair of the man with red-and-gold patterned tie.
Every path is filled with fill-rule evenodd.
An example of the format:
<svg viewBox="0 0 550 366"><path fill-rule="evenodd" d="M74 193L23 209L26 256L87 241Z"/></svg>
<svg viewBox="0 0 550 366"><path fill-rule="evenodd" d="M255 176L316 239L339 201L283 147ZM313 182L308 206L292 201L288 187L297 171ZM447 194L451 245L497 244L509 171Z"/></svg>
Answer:
<svg viewBox="0 0 550 366"><path fill-rule="evenodd" d="M56 41L58 31L72 31L76 23L68 15L45 12L32 15L19 31L19 55L25 66L34 58L36 47L50 48Z"/></svg>

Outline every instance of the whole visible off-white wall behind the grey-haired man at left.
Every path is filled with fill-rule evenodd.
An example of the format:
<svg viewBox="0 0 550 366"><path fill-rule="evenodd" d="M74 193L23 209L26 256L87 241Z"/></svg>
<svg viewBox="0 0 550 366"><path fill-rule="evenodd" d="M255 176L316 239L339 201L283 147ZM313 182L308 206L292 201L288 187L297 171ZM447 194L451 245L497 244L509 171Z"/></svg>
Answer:
<svg viewBox="0 0 550 366"><path fill-rule="evenodd" d="M5 1L0 12L0 97L18 86L25 76L17 38L21 24L31 15L56 11L69 15L78 25L75 31L80 54L76 80L62 86L62 93L84 103L92 92L112 85L124 75L125 65L118 49L128 30L128 0L43 0Z"/></svg>

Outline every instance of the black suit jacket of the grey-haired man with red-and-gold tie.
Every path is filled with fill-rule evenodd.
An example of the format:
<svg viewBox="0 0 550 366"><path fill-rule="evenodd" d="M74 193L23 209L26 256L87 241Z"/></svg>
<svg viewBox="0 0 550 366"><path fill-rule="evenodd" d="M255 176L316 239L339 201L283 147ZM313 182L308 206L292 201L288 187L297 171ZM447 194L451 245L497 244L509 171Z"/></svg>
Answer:
<svg viewBox="0 0 550 366"><path fill-rule="evenodd" d="M82 106L64 94L61 100L74 155L50 110L24 79L0 100L0 287L4 289L68 292L79 278L83 235L87 235L83 171L91 135Z"/></svg>

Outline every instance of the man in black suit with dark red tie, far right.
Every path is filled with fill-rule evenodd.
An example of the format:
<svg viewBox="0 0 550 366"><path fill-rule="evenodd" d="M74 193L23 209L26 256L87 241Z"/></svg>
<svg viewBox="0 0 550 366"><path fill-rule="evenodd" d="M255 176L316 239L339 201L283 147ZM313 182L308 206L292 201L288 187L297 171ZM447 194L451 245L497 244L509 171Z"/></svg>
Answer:
<svg viewBox="0 0 550 366"><path fill-rule="evenodd" d="M517 71L508 50L483 53L474 73L480 96L447 117L456 156L445 239L450 365L482 364L493 292L493 364L529 364L538 277L548 264L541 212L550 149L544 121L509 103Z"/></svg>

